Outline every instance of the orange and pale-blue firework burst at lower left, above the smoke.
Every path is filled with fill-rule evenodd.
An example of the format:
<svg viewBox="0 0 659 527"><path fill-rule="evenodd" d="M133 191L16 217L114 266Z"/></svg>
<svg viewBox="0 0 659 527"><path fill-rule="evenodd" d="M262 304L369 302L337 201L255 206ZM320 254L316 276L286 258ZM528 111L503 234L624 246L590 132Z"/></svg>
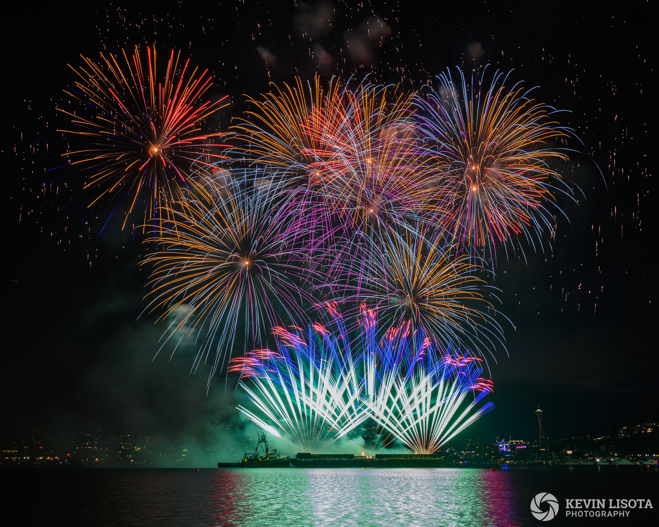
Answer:
<svg viewBox="0 0 659 527"><path fill-rule="evenodd" d="M274 325L308 320L314 299L304 282L320 277L297 260L305 226L292 221L292 195L279 192L278 184L260 187L254 184L259 174L246 173L228 188L210 190L214 201L175 203L167 228L156 233L158 251L144 262L153 265L147 309L160 308L162 319L189 306L165 341L183 327L195 329L201 345L192 369L215 352L209 382L217 368L223 371L241 325L244 346L262 347Z"/></svg>

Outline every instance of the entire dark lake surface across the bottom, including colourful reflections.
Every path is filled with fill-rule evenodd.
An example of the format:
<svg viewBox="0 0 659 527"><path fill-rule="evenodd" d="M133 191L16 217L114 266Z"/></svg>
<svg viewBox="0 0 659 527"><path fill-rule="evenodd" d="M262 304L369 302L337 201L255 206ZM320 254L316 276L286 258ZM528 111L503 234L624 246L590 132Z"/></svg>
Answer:
<svg viewBox="0 0 659 527"><path fill-rule="evenodd" d="M3 469L3 516L85 526L658 525L659 470L616 467ZM558 499L551 522L530 513ZM620 518L565 517L565 500L651 499ZM20 512L19 512L20 511ZM14 516L13 512L11 514ZM5 517L5 520L7 518ZM5 523L5 521L3 521ZM5 523L7 524L7 523Z"/></svg>

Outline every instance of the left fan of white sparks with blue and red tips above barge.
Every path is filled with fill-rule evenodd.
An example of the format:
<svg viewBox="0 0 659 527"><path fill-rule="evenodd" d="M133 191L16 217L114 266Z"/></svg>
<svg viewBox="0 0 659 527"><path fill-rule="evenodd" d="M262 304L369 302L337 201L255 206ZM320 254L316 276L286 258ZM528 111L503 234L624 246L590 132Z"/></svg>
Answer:
<svg viewBox="0 0 659 527"><path fill-rule="evenodd" d="M232 360L230 371L241 372L248 399L274 426L244 406L239 410L309 451L324 449L363 422L367 415L360 402L360 360L351 350L340 316L335 317L335 327L331 331L310 324L306 335L297 328L292 333L275 327L278 352L256 350Z"/></svg>

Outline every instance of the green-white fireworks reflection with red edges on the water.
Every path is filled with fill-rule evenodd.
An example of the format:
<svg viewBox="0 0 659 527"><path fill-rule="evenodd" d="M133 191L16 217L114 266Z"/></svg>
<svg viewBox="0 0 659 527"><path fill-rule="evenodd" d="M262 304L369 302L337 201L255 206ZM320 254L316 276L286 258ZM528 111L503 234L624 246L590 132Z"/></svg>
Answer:
<svg viewBox="0 0 659 527"><path fill-rule="evenodd" d="M246 470L245 524L514 525L507 474L459 468ZM227 471L228 472L228 471ZM221 478L219 473L218 478ZM235 525L218 503L218 525ZM241 520L238 520L239 522Z"/></svg>

